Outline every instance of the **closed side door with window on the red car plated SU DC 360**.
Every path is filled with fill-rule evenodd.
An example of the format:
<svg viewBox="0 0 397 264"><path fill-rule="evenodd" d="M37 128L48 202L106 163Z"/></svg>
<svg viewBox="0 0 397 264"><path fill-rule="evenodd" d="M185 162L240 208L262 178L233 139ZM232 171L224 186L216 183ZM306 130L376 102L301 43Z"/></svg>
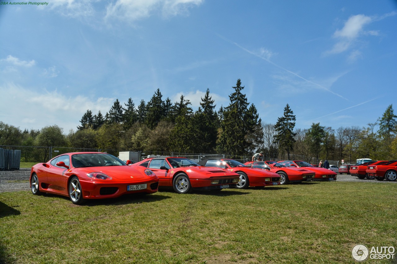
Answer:
<svg viewBox="0 0 397 264"><path fill-rule="evenodd" d="M67 168L57 166L56 163L60 161L63 161L65 165L70 166L69 155L62 155L54 161L51 161L51 166L47 170L48 188L59 193L67 193L67 177L65 176Z"/></svg>

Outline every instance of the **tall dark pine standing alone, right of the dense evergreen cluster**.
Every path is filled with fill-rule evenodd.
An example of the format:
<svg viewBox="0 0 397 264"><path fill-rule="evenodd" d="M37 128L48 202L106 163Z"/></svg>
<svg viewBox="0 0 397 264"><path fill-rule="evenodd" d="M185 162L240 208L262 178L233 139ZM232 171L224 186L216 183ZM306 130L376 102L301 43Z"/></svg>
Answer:
<svg viewBox="0 0 397 264"><path fill-rule="evenodd" d="M277 123L274 125L274 129L276 130L276 140L279 142L279 147L281 149L285 149L288 154L293 151L293 146L295 143L295 133L293 132L295 127L296 117L294 112L289 108L287 104L284 107L284 115L283 117L279 117L277 119Z"/></svg>

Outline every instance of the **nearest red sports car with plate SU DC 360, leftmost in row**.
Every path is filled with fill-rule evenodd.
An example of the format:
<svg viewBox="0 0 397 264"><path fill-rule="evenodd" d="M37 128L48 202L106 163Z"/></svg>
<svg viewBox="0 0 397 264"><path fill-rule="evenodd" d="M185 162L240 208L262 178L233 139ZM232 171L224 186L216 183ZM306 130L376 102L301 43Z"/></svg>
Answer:
<svg viewBox="0 0 397 264"><path fill-rule="evenodd" d="M75 152L33 166L30 184L33 194L69 196L72 203L81 204L85 199L155 193L158 177L149 169L127 166L107 153Z"/></svg>

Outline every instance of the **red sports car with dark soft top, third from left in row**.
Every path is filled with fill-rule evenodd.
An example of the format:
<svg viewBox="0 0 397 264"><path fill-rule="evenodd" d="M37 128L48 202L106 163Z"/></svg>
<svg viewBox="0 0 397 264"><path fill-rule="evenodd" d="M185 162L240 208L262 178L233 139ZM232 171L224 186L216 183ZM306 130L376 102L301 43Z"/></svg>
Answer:
<svg viewBox="0 0 397 264"><path fill-rule="evenodd" d="M233 159L204 159L198 164L206 167L222 168L240 175L236 188L247 189L248 186L264 187L280 185L280 175L274 172L251 168Z"/></svg>

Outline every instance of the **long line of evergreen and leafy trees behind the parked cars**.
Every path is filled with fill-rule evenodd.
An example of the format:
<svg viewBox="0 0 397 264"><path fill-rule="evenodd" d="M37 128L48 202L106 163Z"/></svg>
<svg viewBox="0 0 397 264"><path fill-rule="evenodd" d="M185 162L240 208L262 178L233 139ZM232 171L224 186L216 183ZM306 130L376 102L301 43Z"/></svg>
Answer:
<svg viewBox="0 0 397 264"><path fill-rule="evenodd" d="M207 89L196 111L182 95L172 103L163 100L160 89L136 107L131 98L118 99L105 115L88 109L77 131L64 134L57 125L23 130L0 121L0 145L58 146L85 149L119 149L177 153L222 153L267 158L300 155L306 161L319 159L354 161L359 157L395 159L397 116L389 105L382 117L366 127L331 127L313 123L295 128L296 117L287 104L276 124L262 122L254 104L243 93L238 79L229 95L229 105L215 110Z"/></svg>

